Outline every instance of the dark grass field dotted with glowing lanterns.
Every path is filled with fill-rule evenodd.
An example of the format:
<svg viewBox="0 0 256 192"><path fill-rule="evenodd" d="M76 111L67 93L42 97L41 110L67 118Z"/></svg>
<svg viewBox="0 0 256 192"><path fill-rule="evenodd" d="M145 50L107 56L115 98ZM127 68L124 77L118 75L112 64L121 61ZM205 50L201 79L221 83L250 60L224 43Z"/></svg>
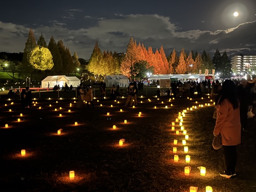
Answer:
<svg viewBox="0 0 256 192"><path fill-rule="evenodd" d="M142 93L145 90L139 92L139 96ZM38 93L33 93L37 104L27 110L21 110L19 99L9 101L2 96L0 191L189 192L190 186L197 186L198 192L204 192L206 186L212 186L214 192L256 191L255 129L244 133L243 144L238 146L238 176L220 177L223 159L221 150L212 148L215 119L212 119L210 99L204 96L204 99L169 102L167 97L157 100L154 93L139 97L135 108L124 106L126 98L118 99L119 103L97 102L99 98L96 98L94 109L85 106L82 110L76 109L74 101L78 100L72 99L73 93L62 95L63 99L50 100L47 98L56 93L44 93L40 99ZM198 107L205 103L211 105ZM190 163L186 163L187 154L181 143L185 136L178 122L175 122L175 131L171 128L178 112L192 105L197 109L187 111L183 117L183 126L189 135L187 154L191 157ZM140 117L139 112L142 112ZM62 129L60 135L58 129ZM178 135L176 130L180 131ZM120 139L125 139L123 146L119 146ZM177 163L172 151L175 139ZM26 150L26 156L21 156L22 149ZM184 175L185 166L191 166L189 176ZM198 166L206 167L206 176L200 176ZM75 180L69 180L71 170L75 171Z"/></svg>

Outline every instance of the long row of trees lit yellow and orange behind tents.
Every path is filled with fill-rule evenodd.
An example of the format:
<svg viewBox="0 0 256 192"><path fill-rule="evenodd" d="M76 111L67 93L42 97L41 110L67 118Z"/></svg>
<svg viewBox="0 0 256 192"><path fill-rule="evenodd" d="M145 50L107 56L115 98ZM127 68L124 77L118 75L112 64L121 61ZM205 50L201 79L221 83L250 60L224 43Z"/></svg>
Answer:
<svg viewBox="0 0 256 192"><path fill-rule="evenodd" d="M205 50L202 54L198 52L190 51L189 55L181 50L178 56L175 49L166 58L163 46L155 52L152 51L152 47L146 49L144 45L137 44L131 37L127 46L125 54L121 54L121 57L114 52L101 52L98 43L96 42L93 49L93 53L90 57L87 70L95 74L96 79L99 76L105 77L106 75L123 74L130 78L143 78L146 73L154 74L186 74L186 73L202 73L205 70L212 71L216 69L217 72L223 73L227 76L231 72L231 63L228 59L227 53L224 52L221 56L218 49L215 56L211 59L209 53Z"/></svg>

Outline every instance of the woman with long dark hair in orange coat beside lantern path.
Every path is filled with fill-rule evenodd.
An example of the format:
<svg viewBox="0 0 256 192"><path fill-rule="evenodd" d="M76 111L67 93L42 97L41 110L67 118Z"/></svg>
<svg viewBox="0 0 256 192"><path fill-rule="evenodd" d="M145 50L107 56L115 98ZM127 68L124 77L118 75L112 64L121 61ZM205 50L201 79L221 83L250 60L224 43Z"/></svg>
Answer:
<svg viewBox="0 0 256 192"><path fill-rule="evenodd" d="M236 146L241 143L241 124L237 89L231 80L222 85L213 134L215 137L221 135L225 170L220 175L226 178L236 176Z"/></svg>

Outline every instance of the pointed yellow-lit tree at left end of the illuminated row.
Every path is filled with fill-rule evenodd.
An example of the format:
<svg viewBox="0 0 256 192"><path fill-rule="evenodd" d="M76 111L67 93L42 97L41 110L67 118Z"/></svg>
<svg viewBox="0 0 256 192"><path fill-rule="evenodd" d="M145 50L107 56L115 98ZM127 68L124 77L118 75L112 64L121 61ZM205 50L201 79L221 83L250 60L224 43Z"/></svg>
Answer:
<svg viewBox="0 0 256 192"><path fill-rule="evenodd" d="M99 48L98 41L96 41L89 64L87 65L87 70L96 75L96 80L99 80L99 75L102 74L102 57L103 55Z"/></svg>

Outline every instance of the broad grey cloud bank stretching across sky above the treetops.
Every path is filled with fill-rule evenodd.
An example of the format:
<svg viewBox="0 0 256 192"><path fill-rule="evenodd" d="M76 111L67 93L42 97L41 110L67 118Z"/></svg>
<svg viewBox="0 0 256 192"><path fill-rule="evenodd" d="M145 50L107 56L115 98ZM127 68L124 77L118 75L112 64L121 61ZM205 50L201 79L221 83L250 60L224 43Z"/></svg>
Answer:
<svg viewBox="0 0 256 192"><path fill-rule="evenodd" d="M254 52L256 41L256 21L241 23L230 29L217 31L187 30L181 29L177 23L172 23L172 18L161 15L113 15L113 18L96 18L84 16L87 20L92 19L93 25L82 25L84 28L74 29L69 23L61 20L50 21L50 26L33 26L35 38L43 33L47 44L53 35L55 41L62 39L64 45L71 52L77 52L79 57L89 59L95 42L98 41L101 50L125 52L131 36L145 47L151 46L153 50L163 45L166 55L172 49L180 51L184 48L201 52L204 49L214 54L215 50L226 50L228 55L240 54L241 52ZM83 19L84 19L83 18ZM88 21L92 22L92 21ZM27 40L29 28L15 23L0 22L0 51L22 52Z"/></svg>

